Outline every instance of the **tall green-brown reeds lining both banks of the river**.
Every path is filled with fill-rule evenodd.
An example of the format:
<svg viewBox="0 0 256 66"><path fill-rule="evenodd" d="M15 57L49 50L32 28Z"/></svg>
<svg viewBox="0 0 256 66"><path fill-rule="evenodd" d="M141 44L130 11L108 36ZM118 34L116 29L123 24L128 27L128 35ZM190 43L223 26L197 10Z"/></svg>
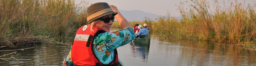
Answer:
<svg viewBox="0 0 256 66"><path fill-rule="evenodd" d="M152 35L169 38L216 41L256 49L255 4L230 1L220 4L214 0L210 6L205 0L181 2L177 10L181 17L159 16L155 20L144 18ZM222 2L224 3L224 2ZM86 24L86 8L90 4L74 0L1 0L0 47L23 47L35 43L59 43L74 36ZM185 7L185 5L189 5ZM220 6L221 5L221 6ZM113 23L118 28L118 23Z"/></svg>

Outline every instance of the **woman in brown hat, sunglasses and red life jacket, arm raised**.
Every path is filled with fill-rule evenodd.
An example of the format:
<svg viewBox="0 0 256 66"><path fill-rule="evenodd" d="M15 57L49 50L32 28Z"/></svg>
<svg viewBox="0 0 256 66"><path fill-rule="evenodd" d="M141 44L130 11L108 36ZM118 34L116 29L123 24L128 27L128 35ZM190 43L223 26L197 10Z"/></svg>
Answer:
<svg viewBox="0 0 256 66"><path fill-rule="evenodd" d="M114 17L122 30L110 32ZM116 6L106 2L92 4L87 9L87 25L76 32L72 48L64 65L74 66L118 66L116 48L135 37L132 25L122 16ZM72 51L72 52L71 52Z"/></svg>

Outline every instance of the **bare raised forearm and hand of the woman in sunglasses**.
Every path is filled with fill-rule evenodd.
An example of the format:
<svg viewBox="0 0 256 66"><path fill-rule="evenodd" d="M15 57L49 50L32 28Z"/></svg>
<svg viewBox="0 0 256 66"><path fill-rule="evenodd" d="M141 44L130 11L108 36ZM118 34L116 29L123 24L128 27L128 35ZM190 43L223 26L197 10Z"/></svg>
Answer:
<svg viewBox="0 0 256 66"><path fill-rule="evenodd" d="M121 26L122 29L126 28L127 26L132 28L132 25L130 25L130 23L122 16L122 14L118 11L116 6L113 6L113 5L109 5L109 6L110 6L110 8L112 8L112 10L114 12L117 12L115 17L116 17L117 22L119 23L119 25Z"/></svg>

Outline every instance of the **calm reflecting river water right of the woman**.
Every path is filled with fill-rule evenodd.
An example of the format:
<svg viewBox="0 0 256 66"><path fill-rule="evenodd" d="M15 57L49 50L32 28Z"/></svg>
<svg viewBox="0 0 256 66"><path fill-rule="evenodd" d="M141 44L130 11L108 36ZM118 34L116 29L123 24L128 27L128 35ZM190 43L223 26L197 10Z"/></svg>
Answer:
<svg viewBox="0 0 256 66"><path fill-rule="evenodd" d="M118 48L126 66L255 66L256 53L215 42L151 37L150 47Z"/></svg>

